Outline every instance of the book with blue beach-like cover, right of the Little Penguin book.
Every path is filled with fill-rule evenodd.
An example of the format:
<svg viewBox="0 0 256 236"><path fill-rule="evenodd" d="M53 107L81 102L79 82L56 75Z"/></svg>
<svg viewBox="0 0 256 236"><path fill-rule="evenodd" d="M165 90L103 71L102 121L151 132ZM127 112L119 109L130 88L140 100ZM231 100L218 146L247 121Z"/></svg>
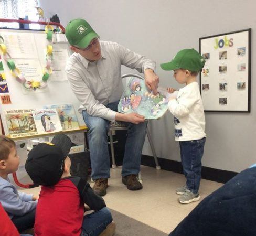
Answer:
<svg viewBox="0 0 256 236"><path fill-rule="evenodd" d="M44 106L44 108L55 108L57 110L63 131L79 130L79 123L73 104L48 105Z"/></svg>

